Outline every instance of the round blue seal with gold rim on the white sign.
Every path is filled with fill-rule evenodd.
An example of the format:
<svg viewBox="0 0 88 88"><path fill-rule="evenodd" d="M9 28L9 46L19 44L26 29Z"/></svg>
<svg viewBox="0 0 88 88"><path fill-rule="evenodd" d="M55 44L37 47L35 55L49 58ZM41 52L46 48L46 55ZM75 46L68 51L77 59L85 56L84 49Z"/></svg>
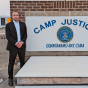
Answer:
<svg viewBox="0 0 88 88"><path fill-rule="evenodd" d="M70 27L63 26L58 29L57 31L57 38L63 42L67 43L72 40L73 38L73 31Z"/></svg>

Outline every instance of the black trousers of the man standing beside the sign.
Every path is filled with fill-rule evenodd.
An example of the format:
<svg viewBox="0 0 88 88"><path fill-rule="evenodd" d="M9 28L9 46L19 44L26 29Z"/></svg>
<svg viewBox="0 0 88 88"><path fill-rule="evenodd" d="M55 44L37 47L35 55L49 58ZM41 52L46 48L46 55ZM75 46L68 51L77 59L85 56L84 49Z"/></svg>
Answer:
<svg viewBox="0 0 88 88"><path fill-rule="evenodd" d="M8 64L9 79L13 79L13 67L17 54L20 60L20 68L22 68L22 66L25 64L25 50L16 49L14 51L9 51L9 64Z"/></svg>

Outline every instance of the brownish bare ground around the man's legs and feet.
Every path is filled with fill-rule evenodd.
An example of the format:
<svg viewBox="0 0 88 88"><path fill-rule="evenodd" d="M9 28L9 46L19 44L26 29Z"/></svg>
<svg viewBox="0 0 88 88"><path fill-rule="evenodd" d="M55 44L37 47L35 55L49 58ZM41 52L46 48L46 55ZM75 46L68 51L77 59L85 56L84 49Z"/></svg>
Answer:
<svg viewBox="0 0 88 88"><path fill-rule="evenodd" d="M9 51L6 50L6 40L1 39L1 36L5 36L5 29L0 29L0 79L4 79L0 83L0 88L15 88L15 83L13 87L8 86L8 61L9 61ZM19 71L20 67L17 64L14 65L14 76ZM16 79L14 79L15 81Z"/></svg>

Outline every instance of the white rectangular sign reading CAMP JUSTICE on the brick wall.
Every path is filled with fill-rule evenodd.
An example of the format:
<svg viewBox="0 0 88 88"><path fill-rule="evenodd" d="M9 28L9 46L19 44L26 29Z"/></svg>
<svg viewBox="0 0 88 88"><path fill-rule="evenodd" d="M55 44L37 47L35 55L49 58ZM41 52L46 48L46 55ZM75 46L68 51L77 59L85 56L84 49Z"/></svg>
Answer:
<svg viewBox="0 0 88 88"><path fill-rule="evenodd" d="M88 17L26 17L27 51L88 51Z"/></svg>

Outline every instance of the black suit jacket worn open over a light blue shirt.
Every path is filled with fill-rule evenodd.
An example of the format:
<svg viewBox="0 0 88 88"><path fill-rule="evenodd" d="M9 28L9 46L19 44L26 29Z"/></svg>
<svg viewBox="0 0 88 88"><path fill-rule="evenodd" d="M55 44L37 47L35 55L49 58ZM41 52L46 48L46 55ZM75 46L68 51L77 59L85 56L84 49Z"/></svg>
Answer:
<svg viewBox="0 0 88 88"><path fill-rule="evenodd" d="M19 21L19 24L20 24L21 41L24 42L21 49L25 49L26 48L25 41L27 38L27 29L26 29L25 23ZM13 51L13 50L17 49L17 46L15 44L18 39L17 39L16 28L15 28L13 21L6 24L5 32L6 32L6 38L8 40L6 50Z"/></svg>

